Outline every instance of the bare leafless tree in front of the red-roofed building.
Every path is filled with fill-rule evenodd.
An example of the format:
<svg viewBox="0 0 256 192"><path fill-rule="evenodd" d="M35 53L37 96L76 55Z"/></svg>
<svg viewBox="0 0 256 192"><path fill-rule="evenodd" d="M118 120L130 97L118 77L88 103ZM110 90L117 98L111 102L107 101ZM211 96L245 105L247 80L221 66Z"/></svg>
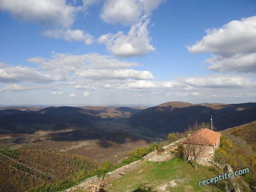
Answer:
<svg viewBox="0 0 256 192"><path fill-rule="evenodd" d="M207 140L201 134L201 126L196 121L193 125L188 125L187 132L190 134L183 141L183 153L190 163L195 161L195 169L197 168L196 163L200 155L206 150Z"/></svg>

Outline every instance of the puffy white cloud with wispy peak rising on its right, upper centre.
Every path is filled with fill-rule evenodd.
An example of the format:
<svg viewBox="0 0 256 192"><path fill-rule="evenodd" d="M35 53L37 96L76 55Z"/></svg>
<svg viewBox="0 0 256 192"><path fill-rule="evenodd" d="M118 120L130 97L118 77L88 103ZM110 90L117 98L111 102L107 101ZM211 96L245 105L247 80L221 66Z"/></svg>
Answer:
<svg viewBox="0 0 256 192"><path fill-rule="evenodd" d="M106 44L109 52L118 57L132 57L145 55L156 48L150 44L151 37L148 37L148 24L150 19L144 15L140 21L132 25L127 35L123 31L116 34L108 33L98 38L98 43Z"/></svg>

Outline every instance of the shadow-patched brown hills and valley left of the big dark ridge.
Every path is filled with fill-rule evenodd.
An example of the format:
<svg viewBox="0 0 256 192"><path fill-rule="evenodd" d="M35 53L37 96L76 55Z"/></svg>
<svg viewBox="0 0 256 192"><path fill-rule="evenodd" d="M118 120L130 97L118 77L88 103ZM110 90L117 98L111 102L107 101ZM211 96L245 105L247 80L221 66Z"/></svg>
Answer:
<svg viewBox="0 0 256 192"><path fill-rule="evenodd" d="M122 122L142 109L89 106L20 109L0 110L0 148L67 151L117 163L132 148L152 142L141 137L142 134L132 134L133 128Z"/></svg>

